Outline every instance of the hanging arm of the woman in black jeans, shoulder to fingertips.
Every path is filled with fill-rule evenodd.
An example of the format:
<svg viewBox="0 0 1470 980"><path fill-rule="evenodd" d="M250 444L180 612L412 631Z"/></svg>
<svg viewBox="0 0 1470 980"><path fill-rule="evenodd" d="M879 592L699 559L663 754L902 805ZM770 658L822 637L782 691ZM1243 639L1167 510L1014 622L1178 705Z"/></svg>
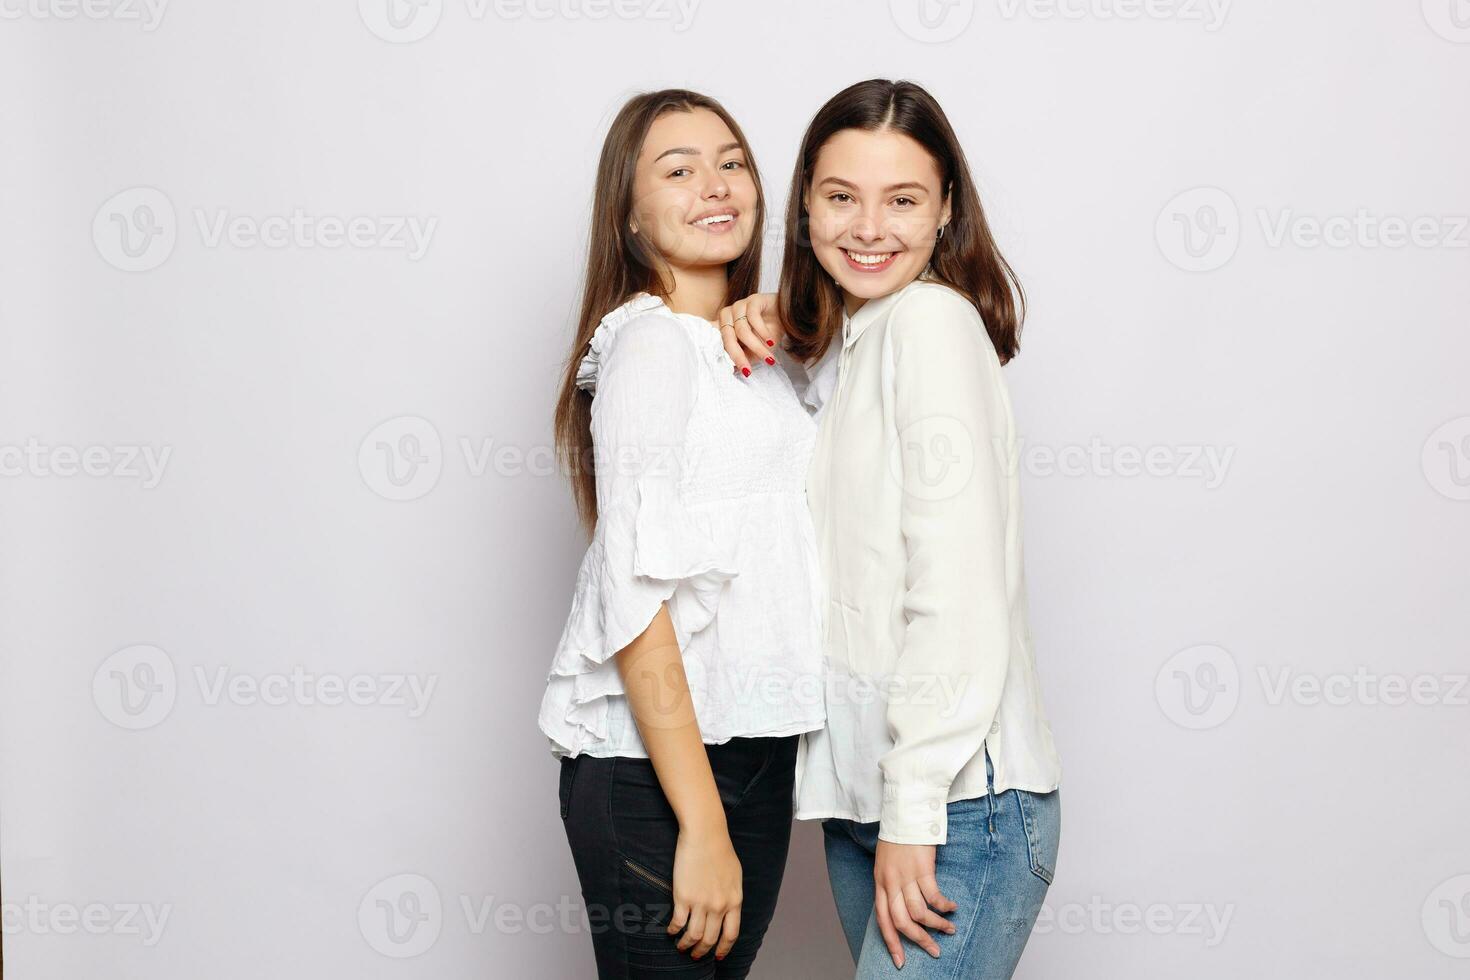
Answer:
<svg viewBox="0 0 1470 980"><path fill-rule="evenodd" d="M739 933L742 879L689 696L664 598L678 574L664 569L660 542L679 538L676 511L685 430L694 410L698 363L688 328L654 316L625 323L607 357L592 404L598 513L617 554L634 554L638 601L614 623L617 673L638 735L679 821L673 862L673 917L679 949L723 958ZM629 502L637 508L629 510ZM626 516L632 513L629 520ZM614 516L623 516L616 520ZM675 541L675 544L678 544ZM641 561L647 560L648 567ZM651 610L651 620L650 620ZM716 946L717 943L717 946Z"/></svg>

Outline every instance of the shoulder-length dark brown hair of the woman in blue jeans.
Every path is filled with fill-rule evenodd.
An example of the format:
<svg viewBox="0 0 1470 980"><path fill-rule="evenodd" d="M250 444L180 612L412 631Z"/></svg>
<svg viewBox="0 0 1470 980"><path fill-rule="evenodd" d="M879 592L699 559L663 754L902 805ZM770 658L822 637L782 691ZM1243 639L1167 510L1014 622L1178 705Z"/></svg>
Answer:
<svg viewBox="0 0 1470 980"><path fill-rule="evenodd" d="M886 78L839 91L817 110L801 138L786 201L786 251L781 260L779 303L781 319L789 331L786 350L801 360L820 357L842 329L842 291L811 250L806 195L817 154L844 129L901 132L933 157L941 188L950 194L950 223L935 242L928 278L975 304L1001 363L1008 361L1020 350L1026 294L991 235L964 148L933 96L913 82Z"/></svg>

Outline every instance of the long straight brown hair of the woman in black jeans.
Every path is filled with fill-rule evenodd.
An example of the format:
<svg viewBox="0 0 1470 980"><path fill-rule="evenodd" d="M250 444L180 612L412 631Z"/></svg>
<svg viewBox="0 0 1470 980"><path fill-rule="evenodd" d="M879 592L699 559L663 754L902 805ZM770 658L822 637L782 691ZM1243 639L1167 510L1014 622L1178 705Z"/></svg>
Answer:
<svg viewBox="0 0 1470 980"><path fill-rule="evenodd" d="M684 88L666 88L634 96L619 110L603 140L592 194L592 222L587 242L587 276L582 281L582 311L576 319L572 353L562 376L553 430L563 472L572 482L578 519L591 535L597 526L597 472L592 460L592 394L576 386L576 369L601 319L639 292L669 298L666 263L645 229L634 232L634 178L648 128L670 112L707 109L719 116L745 151L745 166L756 182L756 220L750 245L726 264L729 284L725 306L756 292L760 285L760 245L766 225L766 197L760 170L739 125L709 96Z"/></svg>

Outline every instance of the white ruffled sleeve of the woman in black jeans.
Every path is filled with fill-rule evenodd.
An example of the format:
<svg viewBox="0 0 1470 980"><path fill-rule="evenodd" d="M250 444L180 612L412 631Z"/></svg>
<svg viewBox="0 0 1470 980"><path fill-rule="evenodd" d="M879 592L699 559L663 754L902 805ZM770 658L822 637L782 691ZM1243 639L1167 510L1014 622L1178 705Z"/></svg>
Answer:
<svg viewBox="0 0 1470 980"><path fill-rule="evenodd" d="M570 754L609 736L607 699L623 693L613 654L648 629L666 601L686 646L736 574L707 519L681 495L701 370L689 326L634 310L604 320L592 341L578 383L585 379L595 392L598 519L541 707L541 729Z"/></svg>

